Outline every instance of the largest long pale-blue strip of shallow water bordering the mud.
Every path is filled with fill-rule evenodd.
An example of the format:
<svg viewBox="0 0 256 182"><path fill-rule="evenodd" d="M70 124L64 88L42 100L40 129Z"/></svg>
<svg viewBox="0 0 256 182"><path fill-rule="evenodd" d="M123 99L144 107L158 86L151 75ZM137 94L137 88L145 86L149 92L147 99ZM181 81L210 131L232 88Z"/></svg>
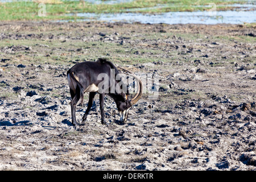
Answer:
<svg viewBox="0 0 256 182"><path fill-rule="evenodd" d="M101 20L107 22L141 22L141 23L253 23L256 22L256 11L193 11L193 12L168 12L162 14L141 14L141 13L117 13L117 14L94 14L77 13L77 16L84 17L82 20Z"/></svg>

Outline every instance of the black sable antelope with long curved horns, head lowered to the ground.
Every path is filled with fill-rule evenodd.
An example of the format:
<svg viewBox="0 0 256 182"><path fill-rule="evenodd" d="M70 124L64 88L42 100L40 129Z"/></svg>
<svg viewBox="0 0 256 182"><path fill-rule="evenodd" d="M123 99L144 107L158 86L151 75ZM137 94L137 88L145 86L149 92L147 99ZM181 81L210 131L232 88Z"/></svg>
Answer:
<svg viewBox="0 0 256 182"><path fill-rule="evenodd" d="M123 68L121 68L123 69ZM111 80L112 70L114 70L114 80ZM115 103L117 104L117 109L120 114L120 121L125 122L127 121L128 112L132 105L134 105L138 100L142 97L142 82L141 80L133 75L130 71L123 69L128 73L123 73L128 76L132 76L138 83L138 91L135 96L128 100L127 95L125 93L125 89L119 87L116 88L116 85L120 83L120 81L115 80L115 76L118 75L119 71L117 67L113 65L110 61L104 58L100 58L97 61L85 61L83 63L75 64L71 69L67 72L68 77L68 84L71 93L71 113L72 113L72 124L77 126L76 121L76 105L79 101L83 101L84 93L89 92L89 101L88 106L85 111L84 116L82 117L82 122L86 121L87 115L89 114L90 108L93 105L93 100L96 92L100 93L100 110L101 110L101 123L102 125L108 125L105 121L105 113L104 113L104 97L105 94L108 94L110 97L113 98ZM107 81L106 85L104 85L104 89L100 90L100 84L102 82L101 79L98 79L99 75L104 73L107 77L105 80ZM109 85L109 86L108 86ZM118 86L117 86L118 88ZM101 91L101 92L100 92Z"/></svg>

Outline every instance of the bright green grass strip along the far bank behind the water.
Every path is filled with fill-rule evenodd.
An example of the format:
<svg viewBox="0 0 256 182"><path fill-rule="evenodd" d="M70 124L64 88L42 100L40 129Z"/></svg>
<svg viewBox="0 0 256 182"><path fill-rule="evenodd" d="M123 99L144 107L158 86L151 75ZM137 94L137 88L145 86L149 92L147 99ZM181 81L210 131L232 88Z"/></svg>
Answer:
<svg viewBox="0 0 256 182"><path fill-rule="evenodd" d="M0 3L0 20L77 20L82 17L77 13L164 13L168 11L198 11L212 9L210 3L217 5L217 10L230 9L229 6L220 6L245 1L220 0L137 0L125 3L94 4L85 1L42 1L38 2L5 2ZM45 9L46 16L39 16Z"/></svg>

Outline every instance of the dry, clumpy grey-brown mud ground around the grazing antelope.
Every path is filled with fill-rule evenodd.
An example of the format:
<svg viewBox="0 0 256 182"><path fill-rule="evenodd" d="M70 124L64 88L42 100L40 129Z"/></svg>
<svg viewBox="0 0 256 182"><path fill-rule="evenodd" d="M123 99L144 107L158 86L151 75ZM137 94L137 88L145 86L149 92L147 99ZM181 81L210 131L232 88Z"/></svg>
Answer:
<svg viewBox="0 0 256 182"><path fill-rule="evenodd" d="M255 26L0 24L0 170L255 170ZM159 97L118 122L98 95L71 125L66 72L108 57L159 75ZM77 106L81 119L85 104Z"/></svg>

